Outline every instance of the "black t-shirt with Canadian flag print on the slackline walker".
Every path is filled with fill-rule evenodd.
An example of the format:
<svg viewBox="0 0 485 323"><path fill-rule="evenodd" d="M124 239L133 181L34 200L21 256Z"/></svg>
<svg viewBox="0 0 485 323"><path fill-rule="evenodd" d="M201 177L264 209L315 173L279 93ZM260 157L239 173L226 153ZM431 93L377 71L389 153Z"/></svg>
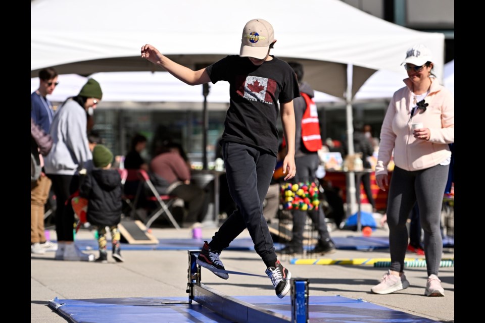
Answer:
<svg viewBox="0 0 485 323"><path fill-rule="evenodd" d="M256 66L247 57L227 56L206 68L212 83L230 84L230 105L221 142L278 153L279 105L300 96L293 69L275 57Z"/></svg>

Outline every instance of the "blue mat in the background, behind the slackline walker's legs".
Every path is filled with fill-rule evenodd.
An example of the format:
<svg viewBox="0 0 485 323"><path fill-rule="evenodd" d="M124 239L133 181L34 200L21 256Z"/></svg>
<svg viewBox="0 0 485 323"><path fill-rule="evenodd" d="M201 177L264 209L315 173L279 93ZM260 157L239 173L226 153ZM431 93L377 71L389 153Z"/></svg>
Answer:
<svg viewBox="0 0 485 323"><path fill-rule="evenodd" d="M332 238L337 249L341 250L375 250L375 249L389 249L388 237L335 237ZM122 250L189 250L200 249L204 244L202 239L159 239L158 244L150 245L136 245L122 243ZM97 250L98 241L93 239L77 239L76 245L81 250ZM455 247L455 239L453 237L445 237L443 239L444 247ZM274 247L279 250L284 247L284 244L275 243ZM108 249L111 249L111 243L108 243ZM251 238L237 238L226 250L254 250L253 241Z"/></svg>

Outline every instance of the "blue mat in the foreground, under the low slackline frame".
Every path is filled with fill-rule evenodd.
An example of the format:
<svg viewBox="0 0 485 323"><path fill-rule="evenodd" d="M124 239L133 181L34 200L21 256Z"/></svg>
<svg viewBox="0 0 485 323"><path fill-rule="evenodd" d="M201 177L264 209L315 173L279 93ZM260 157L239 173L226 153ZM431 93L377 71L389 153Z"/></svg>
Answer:
<svg viewBox="0 0 485 323"><path fill-rule="evenodd" d="M291 299L274 296L240 296L238 300L291 317ZM188 297L58 299L49 306L70 322L219 322L229 323ZM430 323L428 318L341 296L310 296L309 321ZM267 320L265 323L271 323Z"/></svg>

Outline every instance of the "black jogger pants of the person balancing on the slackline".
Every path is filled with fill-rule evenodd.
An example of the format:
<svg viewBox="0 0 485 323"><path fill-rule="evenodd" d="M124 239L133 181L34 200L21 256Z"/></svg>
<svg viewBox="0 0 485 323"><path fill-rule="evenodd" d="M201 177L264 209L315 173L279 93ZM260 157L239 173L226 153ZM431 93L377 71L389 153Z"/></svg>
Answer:
<svg viewBox="0 0 485 323"><path fill-rule="evenodd" d="M212 250L227 248L247 228L258 255L267 266L271 263L274 266L277 257L263 217L263 201L276 166L276 156L234 142L224 142L222 154L229 192L237 209L214 234L210 247Z"/></svg>

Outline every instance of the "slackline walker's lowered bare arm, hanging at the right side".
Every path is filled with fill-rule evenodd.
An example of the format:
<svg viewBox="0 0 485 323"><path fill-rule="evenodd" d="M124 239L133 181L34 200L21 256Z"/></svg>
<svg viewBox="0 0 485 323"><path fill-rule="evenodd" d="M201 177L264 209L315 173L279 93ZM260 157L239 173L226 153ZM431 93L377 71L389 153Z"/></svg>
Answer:
<svg viewBox="0 0 485 323"><path fill-rule="evenodd" d="M286 140L286 156L283 160L284 180L289 180L297 174L295 165L295 110L293 100L281 103L281 123L283 124L284 139Z"/></svg>

